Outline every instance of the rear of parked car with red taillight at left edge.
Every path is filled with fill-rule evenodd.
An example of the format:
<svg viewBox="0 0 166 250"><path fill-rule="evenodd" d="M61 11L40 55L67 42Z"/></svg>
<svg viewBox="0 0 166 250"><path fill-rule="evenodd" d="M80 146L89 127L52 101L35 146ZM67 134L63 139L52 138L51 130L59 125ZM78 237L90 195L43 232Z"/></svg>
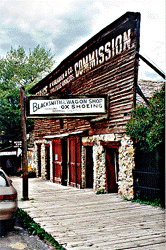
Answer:
<svg viewBox="0 0 166 250"><path fill-rule="evenodd" d="M17 191L7 174L0 169L0 235L15 225Z"/></svg>

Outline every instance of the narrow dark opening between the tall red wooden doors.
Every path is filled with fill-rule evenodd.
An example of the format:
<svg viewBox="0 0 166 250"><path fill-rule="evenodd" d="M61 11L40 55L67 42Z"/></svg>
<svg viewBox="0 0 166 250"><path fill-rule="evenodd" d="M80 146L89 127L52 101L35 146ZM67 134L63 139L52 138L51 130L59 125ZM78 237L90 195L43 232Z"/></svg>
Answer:
<svg viewBox="0 0 166 250"><path fill-rule="evenodd" d="M67 186L67 139L62 142L62 185Z"/></svg>

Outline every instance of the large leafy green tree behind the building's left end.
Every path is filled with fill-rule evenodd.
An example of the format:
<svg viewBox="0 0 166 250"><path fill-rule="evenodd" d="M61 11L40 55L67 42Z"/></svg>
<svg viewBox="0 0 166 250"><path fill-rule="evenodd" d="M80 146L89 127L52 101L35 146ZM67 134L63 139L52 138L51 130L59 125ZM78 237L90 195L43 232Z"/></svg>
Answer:
<svg viewBox="0 0 166 250"><path fill-rule="evenodd" d="M13 49L0 59L0 131L14 133L20 126L20 86L26 93L34 83L48 74L54 64L51 50L40 45L25 53L23 47Z"/></svg>

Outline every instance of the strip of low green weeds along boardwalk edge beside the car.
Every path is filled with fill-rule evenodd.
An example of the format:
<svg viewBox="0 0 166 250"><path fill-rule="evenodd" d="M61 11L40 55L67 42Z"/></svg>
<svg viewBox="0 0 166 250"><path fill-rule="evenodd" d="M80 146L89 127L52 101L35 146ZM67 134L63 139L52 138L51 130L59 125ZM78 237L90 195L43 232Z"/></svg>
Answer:
<svg viewBox="0 0 166 250"><path fill-rule="evenodd" d="M18 209L17 218L19 219L22 226L28 230L31 235L37 235L41 240L50 242L55 249L64 250L50 234L48 234L41 226L34 222L34 220L27 214L27 212Z"/></svg>

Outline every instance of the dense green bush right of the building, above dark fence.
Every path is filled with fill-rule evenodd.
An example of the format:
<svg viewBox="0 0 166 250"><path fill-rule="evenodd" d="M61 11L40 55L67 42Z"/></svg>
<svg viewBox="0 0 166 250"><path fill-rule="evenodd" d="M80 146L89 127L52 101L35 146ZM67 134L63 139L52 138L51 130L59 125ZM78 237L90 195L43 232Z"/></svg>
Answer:
<svg viewBox="0 0 166 250"><path fill-rule="evenodd" d="M150 105L136 107L127 123L126 132L141 150L150 152L164 142L165 86L150 99Z"/></svg>

